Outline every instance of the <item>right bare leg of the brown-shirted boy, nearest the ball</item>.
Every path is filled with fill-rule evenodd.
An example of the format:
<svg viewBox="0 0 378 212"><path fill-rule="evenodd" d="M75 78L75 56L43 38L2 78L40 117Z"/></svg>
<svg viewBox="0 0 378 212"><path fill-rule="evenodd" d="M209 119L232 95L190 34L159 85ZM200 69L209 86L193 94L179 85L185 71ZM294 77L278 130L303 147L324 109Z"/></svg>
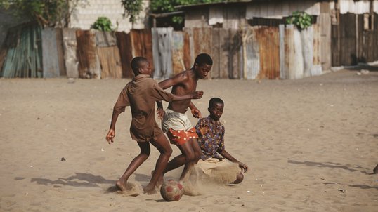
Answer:
<svg viewBox="0 0 378 212"><path fill-rule="evenodd" d="M160 135L157 140L152 140L151 144L159 150L160 156L156 161L155 171L152 172L150 183L143 189L148 194L156 192L155 185L157 185L157 181L162 176L164 168L167 166L169 157L172 154L171 145L164 135Z"/></svg>

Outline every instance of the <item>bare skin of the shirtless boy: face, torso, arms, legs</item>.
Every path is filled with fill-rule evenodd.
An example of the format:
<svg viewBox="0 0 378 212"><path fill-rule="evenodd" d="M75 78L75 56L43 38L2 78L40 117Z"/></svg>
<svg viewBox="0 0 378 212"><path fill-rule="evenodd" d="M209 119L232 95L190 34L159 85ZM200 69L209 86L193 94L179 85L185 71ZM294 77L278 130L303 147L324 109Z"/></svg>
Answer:
<svg viewBox="0 0 378 212"><path fill-rule="evenodd" d="M195 63L190 70L181 72L176 76L161 81L159 86L163 89L172 87L171 93L174 95L186 95L192 93L197 88L198 79L204 79L207 77L211 70L211 65L203 64L199 65ZM164 116L164 110L162 109L162 103L157 102L158 110L157 115L160 119ZM201 118L202 114L200 110L195 107L193 102L190 100L182 100L176 102L169 102L168 108L174 110L175 112L185 113L190 108L193 117ZM189 171L200 159L201 150L200 146L197 143L197 139L190 139L188 142L183 145L177 145L178 149L181 151L181 155L174 157L164 170L164 173L171 171L180 166L184 166L183 173L181 173L180 180L185 180L188 176ZM162 183L162 175L160 178L160 183Z"/></svg>

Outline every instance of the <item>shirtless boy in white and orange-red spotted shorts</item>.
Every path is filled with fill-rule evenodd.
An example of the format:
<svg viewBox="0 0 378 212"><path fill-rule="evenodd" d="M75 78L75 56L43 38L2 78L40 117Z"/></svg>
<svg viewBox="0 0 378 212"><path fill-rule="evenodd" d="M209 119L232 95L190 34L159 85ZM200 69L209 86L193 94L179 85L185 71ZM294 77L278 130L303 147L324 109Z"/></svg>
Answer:
<svg viewBox="0 0 378 212"><path fill-rule="evenodd" d="M210 55L202 53L197 55L190 70L183 71L170 79L159 82L159 86L163 89L172 87L171 93L174 95L193 93L197 88L198 79L207 77L212 65L213 60ZM165 112L162 110L161 102L158 102L158 107L158 116L162 118L162 130L167 133L171 143L177 145L182 153L169 161L163 173L185 164L183 173L180 176L180 180L184 181L201 155L201 150L197 143L198 135L195 133L195 128L190 123L185 112L190 107L193 117L202 118L201 112L190 100L169 102L168 109ZM160 180L162 180L162 175Z"/></svg>

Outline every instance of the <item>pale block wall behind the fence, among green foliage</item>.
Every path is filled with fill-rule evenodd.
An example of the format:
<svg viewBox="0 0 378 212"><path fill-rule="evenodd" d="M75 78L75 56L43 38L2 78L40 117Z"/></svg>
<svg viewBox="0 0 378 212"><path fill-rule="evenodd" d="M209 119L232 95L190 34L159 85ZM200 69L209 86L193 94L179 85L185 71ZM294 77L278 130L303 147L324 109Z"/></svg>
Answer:
<svg viewBox="0 0 378 212"><path fill-rule="evenodd" d="M150 1L143 0L144 10L139 15L133 29L148 27L148 17L146 14L149 4ZM88 0L88 4L78 6L76 11L72 13L69 27L90 29L98 17L105 16L112 21L113 27L117 27L118 22L117 31L129 32L132 25L128 17L124 18L122 16L123 13L124 8L119 0Z"/></svg>

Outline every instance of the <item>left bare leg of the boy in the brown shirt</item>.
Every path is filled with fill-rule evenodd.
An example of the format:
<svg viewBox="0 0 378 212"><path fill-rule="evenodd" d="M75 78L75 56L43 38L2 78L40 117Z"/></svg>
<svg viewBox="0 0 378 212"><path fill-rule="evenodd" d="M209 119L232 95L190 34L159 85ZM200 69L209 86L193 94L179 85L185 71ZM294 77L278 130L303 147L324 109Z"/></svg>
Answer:
<svg viewBox="0 0 378 212"><path fill-rule="evenodd" d="M138 142L139 148L141 148L141 153L138 154L137 157L135 157L131 163L129 164L129 167L126 168L126 171L122 175L119 180L117 180L117 187L119 190L125 191L126 190L126 183L127 180L129 179L130 175L136 171L136 168L141 166L143 162L148 158L150 155L150 143L148 142Z"/></svg>

